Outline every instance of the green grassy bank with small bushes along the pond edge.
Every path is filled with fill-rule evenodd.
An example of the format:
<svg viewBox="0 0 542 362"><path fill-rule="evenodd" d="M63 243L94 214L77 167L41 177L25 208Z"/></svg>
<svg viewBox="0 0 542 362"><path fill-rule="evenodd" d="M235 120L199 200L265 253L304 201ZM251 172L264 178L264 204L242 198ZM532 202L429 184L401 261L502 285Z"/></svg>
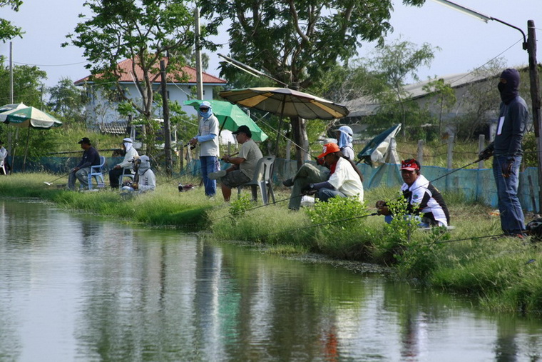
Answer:
<svg viewBox="0 0 542 362"><path fill-rule="evenodd" d="M371 207L342 200L289 211L287 189L277 190L282 202L276 205L257 207L241 198L228 206L221 196L205 198L202 189L180 193L178 181L160 175L155 192L136 197L111 190L64 191L44 184L51 179L55 177L47 174L0 177L0 195L43 198L66 209L148 226L211 231L215 238L260 243L274 253L322 253L394 266L398 278L469 294L489 310L542 311L541 246L497 237L498 216L461 195L444 195L455 229L443 232L420 231L401 218L387 225L381 216L372 216ZM367 205L396 194L397 190L372 189L366 192Z"/></svg>

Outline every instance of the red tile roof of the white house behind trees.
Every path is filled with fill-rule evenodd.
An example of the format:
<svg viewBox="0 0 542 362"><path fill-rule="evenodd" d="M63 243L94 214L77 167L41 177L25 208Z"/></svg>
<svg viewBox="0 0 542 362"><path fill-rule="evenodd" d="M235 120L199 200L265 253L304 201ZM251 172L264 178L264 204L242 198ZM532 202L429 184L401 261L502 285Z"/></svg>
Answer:
<svg viewBox="0 0 542 362"><path fill-rule="evenodd" d="M132 59L126 59L118 63L118 68L121 70L121 78L118 81L132 83L134 78L138 80L143 79L143 69L141 69L141 67L138 65L136 65L136 74L132 76L133 74L132 62L133 62ZM159 69L160 64L156 63L155 68ZM175 75L179 75L182 77L184 74L188 76L188 79L186 81L175 80ZM99 74L98 74L98 77L99 77ZM86 76L83 79L79 79L78 81L75 81L74 84L76 86L81 86L86 81L89 81L90 78L91 76ZM202 72L202 78L203 78L203 84L226 84L227 83L224 79L220 79L217 76L212 76L205 72ZM168 74L167 80L168 80L168 83L195 84L196 82L195 68L191 66L183 66L182 71L170 72ZM159 83L159 82L160 82L160 73L158 72L153 79L153 83Z"/></svg>

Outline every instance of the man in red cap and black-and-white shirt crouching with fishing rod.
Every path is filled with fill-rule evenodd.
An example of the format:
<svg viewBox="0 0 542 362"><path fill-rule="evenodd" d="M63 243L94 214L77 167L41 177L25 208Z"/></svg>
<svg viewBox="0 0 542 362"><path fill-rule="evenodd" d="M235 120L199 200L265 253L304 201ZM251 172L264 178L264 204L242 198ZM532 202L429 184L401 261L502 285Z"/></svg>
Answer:
<svg viewBox="0 0 542 362"><path fill-rule="evenodd" d="M403 186L401 191L409 203L407 211L420 218L419 226L449 226L450 214L446 202L439 190L420 174L421 166L415 159L404 160L401 163ZM379 215L386 216L386 221L392 221L392 213L387 203L377 201Z"/></svg>

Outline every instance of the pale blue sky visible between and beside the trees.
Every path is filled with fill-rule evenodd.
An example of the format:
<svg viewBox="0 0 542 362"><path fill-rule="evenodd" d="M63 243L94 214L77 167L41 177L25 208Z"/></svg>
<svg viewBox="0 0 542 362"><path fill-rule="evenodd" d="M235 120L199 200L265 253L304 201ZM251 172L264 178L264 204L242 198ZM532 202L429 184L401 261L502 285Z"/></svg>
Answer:
<svg viewBox="0 0 542 362"><path fill-rule="evenodd" d="M26 34L14 39L14 65L37 65L48 74L46 86L55 86L61 78L73 81L88 76L84 68L83 50L75 46L61 48L66 34L73 32L78 14L88 11L83 0L24 0L19 12L1 8L1 16L21 26ZM542 39L542 0L454 0L479 13L518 26L527 34L527 21L535 22L538 49ZM419 69L421 80L434 76L464 73L483 66L487 61L502 57L506 66L516 67L528 64L528 54L522 49L523 37L520 31L498 21L484 21L454 11L434 1L427 0L421 8L404 6L394 1L394 12L390 20L394 31L387 41L398 39L411 41L418 46L428 43L439 46L440 51L430 67ZM227 43L227 34L215 39ZM359 57L370 56L375 44L364 43ZM205 51L205 50L204 50ZM218 76L220 59L216 53L227 54L227 47L210 56L209 74ZM0 54L9 61L9 42L0 43ZM538 63L542 53L538 50ZM249 64L250 65L250 64Z"/></svg>

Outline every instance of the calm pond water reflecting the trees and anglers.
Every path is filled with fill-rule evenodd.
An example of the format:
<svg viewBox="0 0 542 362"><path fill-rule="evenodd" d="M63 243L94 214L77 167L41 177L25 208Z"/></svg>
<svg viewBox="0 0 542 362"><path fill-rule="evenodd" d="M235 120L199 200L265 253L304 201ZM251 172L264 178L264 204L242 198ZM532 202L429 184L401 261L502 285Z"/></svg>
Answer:
<svg viewBox="0 0 542 362"><path fill-rule="evenodd" d="M0 199L0 361L536 361L541 318Z"/></svg>

